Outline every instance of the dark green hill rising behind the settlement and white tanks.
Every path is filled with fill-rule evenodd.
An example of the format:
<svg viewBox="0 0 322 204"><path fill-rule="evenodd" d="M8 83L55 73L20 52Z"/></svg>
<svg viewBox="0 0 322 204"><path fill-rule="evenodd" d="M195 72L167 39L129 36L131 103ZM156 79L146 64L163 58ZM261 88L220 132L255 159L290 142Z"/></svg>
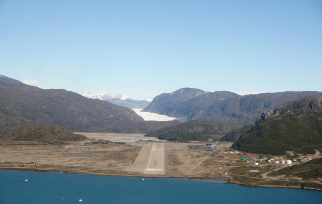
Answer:
<svg viewBox="0 0 322 204"><path fill-rule="evenodd" d="M233 148L258 154L283 155L285 151L312 154L322 150L322 112L303 116L285 113L269 118L242 135Z"/></svg>

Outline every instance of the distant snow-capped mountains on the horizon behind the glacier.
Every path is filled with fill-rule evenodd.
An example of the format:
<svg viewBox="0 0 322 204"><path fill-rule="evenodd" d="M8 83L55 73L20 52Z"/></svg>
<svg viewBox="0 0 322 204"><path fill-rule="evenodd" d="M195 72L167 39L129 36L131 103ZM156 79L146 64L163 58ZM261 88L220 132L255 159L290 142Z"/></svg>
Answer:
<svg viewBox="0 0 322 204"><path fill-rule="evenodd" d="M90 94L85 91L81 95L87 98L106 100L109 103L118 106L125 106L130 109L143 109L150 104L148 100L133 100L123 93L119 93L116 96L112 97L107 92Z"/></svg>

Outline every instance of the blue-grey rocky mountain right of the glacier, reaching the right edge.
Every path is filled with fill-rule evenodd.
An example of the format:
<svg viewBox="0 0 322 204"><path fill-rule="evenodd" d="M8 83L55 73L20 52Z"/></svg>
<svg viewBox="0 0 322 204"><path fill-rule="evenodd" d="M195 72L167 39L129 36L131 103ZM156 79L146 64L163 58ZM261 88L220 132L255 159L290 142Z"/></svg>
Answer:
<svg viewBox="0 0 322 204"><path fill-rule="evenodd" d="M183 88L172 93L156 96L143 111L171 117L181 121L225 121L240 127L254 124L263 112L322 92L278 92L238 95L228 91L204 92L200 89Z"/></svg>

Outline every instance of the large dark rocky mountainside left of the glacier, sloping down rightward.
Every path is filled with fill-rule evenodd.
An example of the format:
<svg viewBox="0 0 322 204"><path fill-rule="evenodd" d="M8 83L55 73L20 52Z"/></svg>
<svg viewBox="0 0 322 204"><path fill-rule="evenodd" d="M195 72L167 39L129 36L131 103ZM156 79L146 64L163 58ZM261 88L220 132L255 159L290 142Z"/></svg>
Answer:
<svg viewBox="0 0 322 204"><path fill-rule="evenodd" d="M61 125L75 132L100 132L111 126L144 121L126 107L64 89L40 89L2 75L0 113L40 124Z"/></svg>

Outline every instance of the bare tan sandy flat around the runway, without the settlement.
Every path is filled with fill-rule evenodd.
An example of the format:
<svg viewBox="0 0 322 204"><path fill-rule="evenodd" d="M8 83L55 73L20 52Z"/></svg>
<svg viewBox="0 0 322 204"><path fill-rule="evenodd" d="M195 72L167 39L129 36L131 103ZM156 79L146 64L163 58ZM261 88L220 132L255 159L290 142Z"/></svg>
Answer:
<svg viewBox="0 0 322 204"><path fill-rule="evenodd" d="M89 140L62 146L2 143L0 161L6 163L1 165L39 169L55 167L62 170L73 168L92 173L197 176L222 173L224 169L216 168L219 170L217 172L214 171L215 166L229 162L229 159L215 160L214 154L205 149L189 148L188 145L192 143L166 142L156 138L137 141L142 139L143 134L78 134L85 135ZM30 165L30 162L36 162L36 165Z"/></svg>

